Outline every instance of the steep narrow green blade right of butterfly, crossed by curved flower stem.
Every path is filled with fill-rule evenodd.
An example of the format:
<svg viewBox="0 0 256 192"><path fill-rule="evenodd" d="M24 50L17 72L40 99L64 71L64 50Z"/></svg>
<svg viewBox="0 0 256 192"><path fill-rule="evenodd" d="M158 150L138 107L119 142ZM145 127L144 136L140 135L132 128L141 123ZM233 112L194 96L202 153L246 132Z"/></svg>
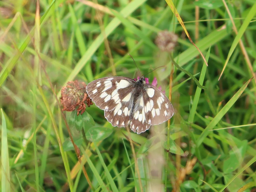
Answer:
<svg viewBox="0 0 256 192"><path fill-rule="evenodd" d="M211 47L208 49L208 52L207 52L206 57L205 57L207 62L208 62L208 59L209 59L210 51L211 51ZM206 65L203 65L202 70L201 70L201 74L200 74L200 77L199 77L199 83L201 85L204 82L205 72L206 72ZM188 117L188 122L193 123L193 121L194 121L195 112L196 112L197 104L198 104L198 101L199 101L199 98L200 98L201 90L202 89L200 87L196 88L195 97L194 97L194 100L193 100L193 105L191 107L191 111L190 111L189 117Z"/></svg>

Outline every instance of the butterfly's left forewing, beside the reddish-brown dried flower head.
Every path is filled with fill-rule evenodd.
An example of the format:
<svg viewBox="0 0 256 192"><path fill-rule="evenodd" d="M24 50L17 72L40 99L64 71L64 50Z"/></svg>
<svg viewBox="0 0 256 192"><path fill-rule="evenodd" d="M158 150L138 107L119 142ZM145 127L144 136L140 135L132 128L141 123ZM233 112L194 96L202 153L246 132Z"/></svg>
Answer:
<svg viewBox="0 0 256 192"><path fill-rule="evenodd" d="M131 85L134 83L133 79L127 77L104 77L90 82L86 86L86 91L96 106L111 111L116 107L122 109L122 101L130 102Z"/></svg>

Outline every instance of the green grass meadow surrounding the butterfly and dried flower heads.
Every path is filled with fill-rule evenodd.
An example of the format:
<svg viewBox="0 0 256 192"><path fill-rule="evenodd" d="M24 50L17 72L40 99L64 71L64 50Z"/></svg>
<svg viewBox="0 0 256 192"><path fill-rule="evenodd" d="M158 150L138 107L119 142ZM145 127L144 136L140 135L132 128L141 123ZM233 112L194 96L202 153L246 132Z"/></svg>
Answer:
<svg viewBox="0 0 256 192"><path fill-rule="evenodd" d="M255 192L255 13L255 0L0 1L0 190ZM62 111L69 81L143 74L170 121L136 134L94 104Z"/></svg>

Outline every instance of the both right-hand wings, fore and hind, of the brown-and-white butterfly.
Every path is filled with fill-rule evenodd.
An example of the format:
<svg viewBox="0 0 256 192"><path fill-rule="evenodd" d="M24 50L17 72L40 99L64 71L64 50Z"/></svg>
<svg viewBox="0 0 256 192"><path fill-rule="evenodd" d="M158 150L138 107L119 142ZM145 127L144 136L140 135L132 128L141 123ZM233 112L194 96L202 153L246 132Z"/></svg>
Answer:
<svg viewBox="0 0 256 192"><path fill-rule="evenodd" d="M174 109L165 94L153 85L146 84L141 96L135 102L130 127L140 134L151 125L158 125L170 119Z"/></svg>

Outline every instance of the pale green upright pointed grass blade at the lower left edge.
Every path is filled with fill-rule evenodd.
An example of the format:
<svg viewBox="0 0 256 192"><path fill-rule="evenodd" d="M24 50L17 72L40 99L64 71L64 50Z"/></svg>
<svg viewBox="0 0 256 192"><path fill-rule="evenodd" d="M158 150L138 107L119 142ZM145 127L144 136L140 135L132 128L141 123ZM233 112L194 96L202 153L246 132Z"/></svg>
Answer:
<svg viewBox="0 0 256 192"><path fill-rule="evenodd" d="M7 142L7 127L4 117L3 109L2 112L2 135L1 135L1 191L10 191L10 167L9 167L9 153L8 153L8 142Z"/></svg>

